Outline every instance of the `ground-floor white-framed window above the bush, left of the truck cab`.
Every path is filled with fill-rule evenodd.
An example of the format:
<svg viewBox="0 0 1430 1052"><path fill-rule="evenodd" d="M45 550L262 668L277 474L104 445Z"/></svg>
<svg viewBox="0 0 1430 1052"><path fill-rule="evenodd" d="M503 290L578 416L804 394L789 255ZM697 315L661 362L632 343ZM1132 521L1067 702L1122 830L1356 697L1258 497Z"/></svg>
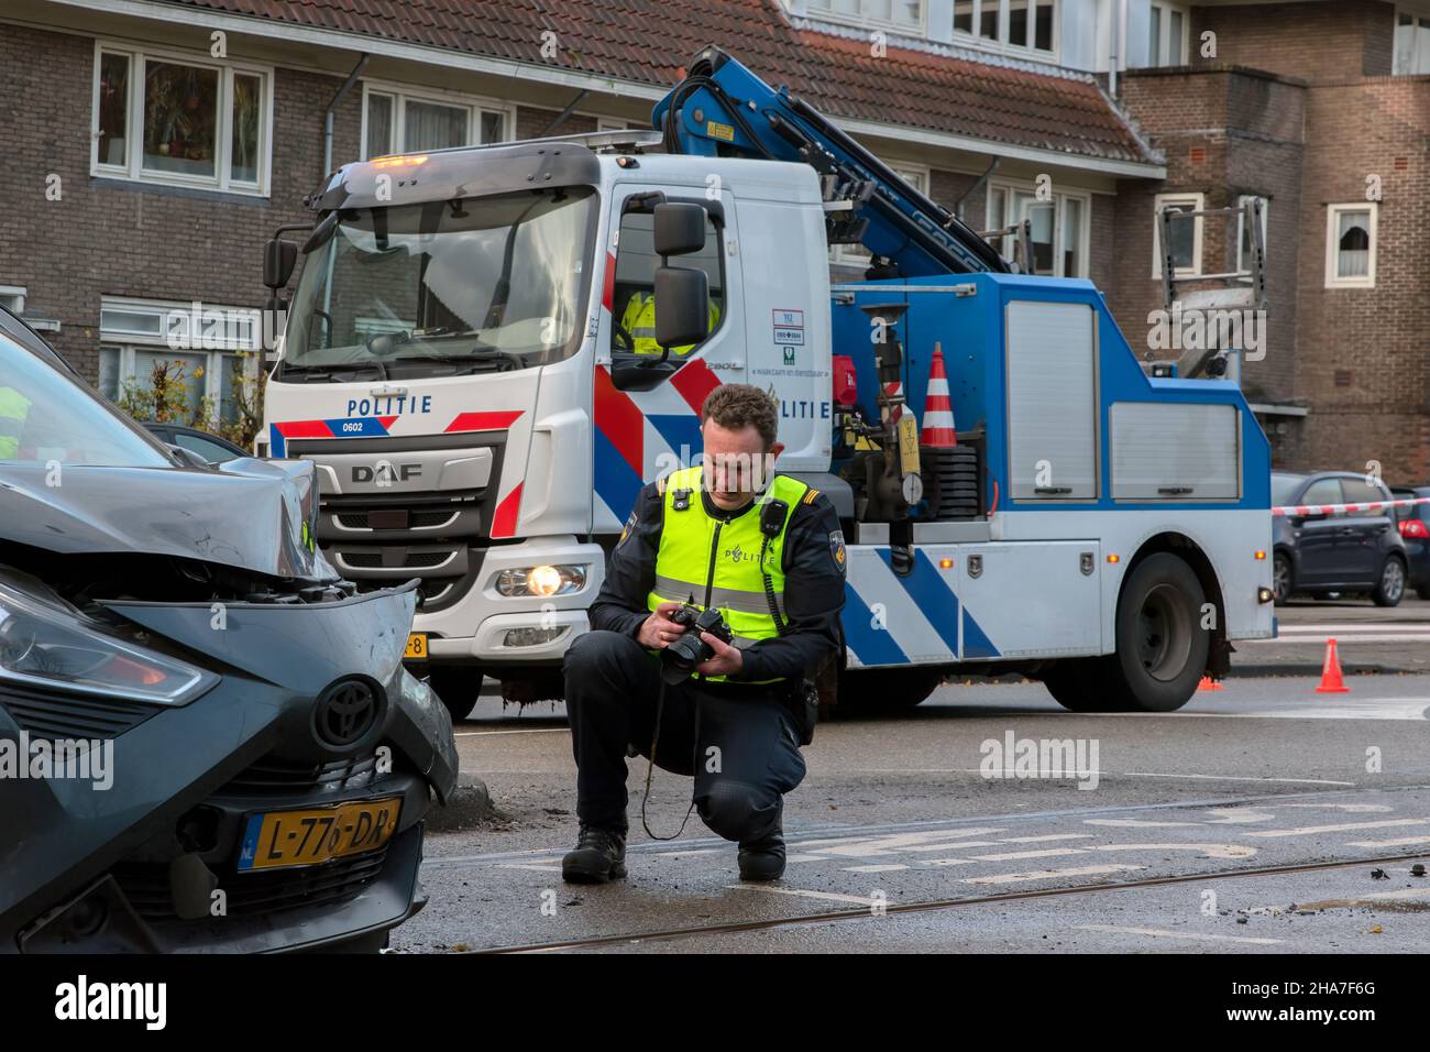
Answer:
<svg viewBox="0 0 1430 1052"><path fill-rule="evenodd" d="M106 296L99 325L99 391L106 398L153 418L156 384L163 382L166 404L182 417L176 422L237 422L243 355L256 349L262 332L256 309ZM256 355L250 359L256 364Z"/></svg>

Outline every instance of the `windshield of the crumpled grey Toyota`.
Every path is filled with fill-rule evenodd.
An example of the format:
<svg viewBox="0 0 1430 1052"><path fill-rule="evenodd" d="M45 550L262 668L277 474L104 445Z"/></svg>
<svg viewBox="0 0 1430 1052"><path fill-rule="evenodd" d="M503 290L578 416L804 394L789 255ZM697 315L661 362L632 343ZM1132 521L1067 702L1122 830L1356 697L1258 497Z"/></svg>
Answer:
<svg viewBox="0 0 1430 1052"><path fill-rule="evenodd" d="M0 333L0 464L172 468L137 427Z"/></svg>

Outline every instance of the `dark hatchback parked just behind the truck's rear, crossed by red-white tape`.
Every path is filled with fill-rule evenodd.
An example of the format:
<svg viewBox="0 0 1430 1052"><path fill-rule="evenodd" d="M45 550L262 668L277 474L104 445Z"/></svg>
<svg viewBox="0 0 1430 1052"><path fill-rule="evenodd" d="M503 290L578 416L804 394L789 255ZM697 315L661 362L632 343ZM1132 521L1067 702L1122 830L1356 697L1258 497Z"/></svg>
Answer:
<svg viewBox="0 0 1430 1052"><path fill-rule="evenodd" d="M1383 482L1351 471L1313 475L1271 472L1276 505L1371 504L1389 501ZM1277 605L1297 593L1370 593L1377 607L1406 594L1409 558L1394 511L1277 515L1271 532L1271 584Z"/></svg>

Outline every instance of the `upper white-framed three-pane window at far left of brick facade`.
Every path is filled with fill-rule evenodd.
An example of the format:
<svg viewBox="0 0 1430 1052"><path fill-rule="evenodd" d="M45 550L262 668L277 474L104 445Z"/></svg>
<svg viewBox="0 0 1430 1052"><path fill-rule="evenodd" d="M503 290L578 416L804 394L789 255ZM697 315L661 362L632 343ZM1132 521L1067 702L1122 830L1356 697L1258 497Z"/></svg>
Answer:
<svg viewBox="0 0 1430 1052"><path fill-rule="evenodd" d="M90 173L267 193L272 70L97 43Z"/></svg>

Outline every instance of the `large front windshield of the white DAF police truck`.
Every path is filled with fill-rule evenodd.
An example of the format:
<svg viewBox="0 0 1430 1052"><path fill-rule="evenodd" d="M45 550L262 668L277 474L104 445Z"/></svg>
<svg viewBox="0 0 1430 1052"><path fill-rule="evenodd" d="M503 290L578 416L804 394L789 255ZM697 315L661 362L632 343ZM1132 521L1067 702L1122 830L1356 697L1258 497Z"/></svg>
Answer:
<svg viewBox="0 0 1430 1052"><path fill-rule="evenodd" d="M523 369L576 352L591 187L343 210L307 258L280 376Z"/></svg>

